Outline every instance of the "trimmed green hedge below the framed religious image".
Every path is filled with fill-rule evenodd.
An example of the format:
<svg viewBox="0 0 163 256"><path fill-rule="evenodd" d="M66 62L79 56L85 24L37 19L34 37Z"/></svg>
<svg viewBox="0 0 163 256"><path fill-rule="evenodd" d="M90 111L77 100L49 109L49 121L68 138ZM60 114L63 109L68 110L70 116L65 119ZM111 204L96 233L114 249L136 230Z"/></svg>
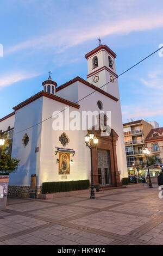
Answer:
<svg viewBox="0 0 163 256"><path fill-rule="evenodd" d="M86 190L90 187L90 180L72 180L72 181L56 181L43 182L42 193L66 192L74 190Z"/></svg>

